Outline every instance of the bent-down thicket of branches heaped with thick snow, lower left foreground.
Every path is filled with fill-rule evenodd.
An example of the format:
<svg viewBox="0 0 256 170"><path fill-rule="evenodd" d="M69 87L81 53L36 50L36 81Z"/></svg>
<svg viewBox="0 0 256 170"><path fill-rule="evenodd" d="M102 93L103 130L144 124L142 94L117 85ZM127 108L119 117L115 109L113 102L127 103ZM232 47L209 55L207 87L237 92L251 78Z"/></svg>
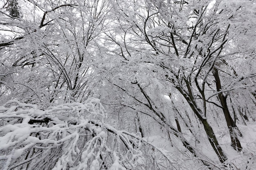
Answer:
<svg viewBox="0 0 256 170"><path fill-rule="evenodd" d="M105 119L95 98L47 110L11 100L0 106L0 169L172 169L164 151Z"/></svg>

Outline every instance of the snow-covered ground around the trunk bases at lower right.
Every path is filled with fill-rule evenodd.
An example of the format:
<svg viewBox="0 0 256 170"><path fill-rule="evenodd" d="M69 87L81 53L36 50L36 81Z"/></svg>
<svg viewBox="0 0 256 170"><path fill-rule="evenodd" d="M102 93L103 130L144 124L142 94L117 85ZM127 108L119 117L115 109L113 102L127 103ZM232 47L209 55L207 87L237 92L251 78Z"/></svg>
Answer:
<svg viewBox="0 0 256 170"><path fill-rule="evenodd" d="M192 157L191 153L182 145L182 143L173 137L170 141L163 136L149 136L145 139L155 145L157 148L162 148L165 152L175 159L175 163L183 166L184 170L256 170L256 124L247 123L247 125L238 125L243 137L240 137L243 150L237 152L231 146L231 140L228 130L215 130L221 147L225 150L228 160L225 164L218 161L218 157L214 154L211 146L208 144L205 134L202 132L200 143L193 143L194 148L201 153L200 158ZM224 128L223 128L224 129ZM191 137L192 139L193 137ZM200 160L207 161L211 167L202 166Z"/></svg>

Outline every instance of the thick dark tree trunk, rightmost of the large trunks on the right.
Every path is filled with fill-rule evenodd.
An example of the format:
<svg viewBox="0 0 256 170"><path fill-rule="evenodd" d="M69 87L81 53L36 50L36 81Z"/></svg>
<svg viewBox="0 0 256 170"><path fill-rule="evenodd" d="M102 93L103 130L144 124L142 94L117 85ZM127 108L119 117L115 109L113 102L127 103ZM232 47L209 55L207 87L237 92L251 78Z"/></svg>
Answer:
<svg viewBox="0 0 256 170"><path fill-rule="evenodd" d="M218 92L222 90L221 83L220 83L220 77L218 73L218 69L216 67L213 67L213 76L216 81L216 89ZM225 115L227 127L229 128L229 134L231 138L231 146L238 151L241 151L243 148L240 144L240 141L237 137L236 130L239 130L236 126L235 121L232 119L229 109L227 107L227 95L223 95L223 93L218 93L218 97L220 99L220 104L222 106L223 113Z"/></svg>

